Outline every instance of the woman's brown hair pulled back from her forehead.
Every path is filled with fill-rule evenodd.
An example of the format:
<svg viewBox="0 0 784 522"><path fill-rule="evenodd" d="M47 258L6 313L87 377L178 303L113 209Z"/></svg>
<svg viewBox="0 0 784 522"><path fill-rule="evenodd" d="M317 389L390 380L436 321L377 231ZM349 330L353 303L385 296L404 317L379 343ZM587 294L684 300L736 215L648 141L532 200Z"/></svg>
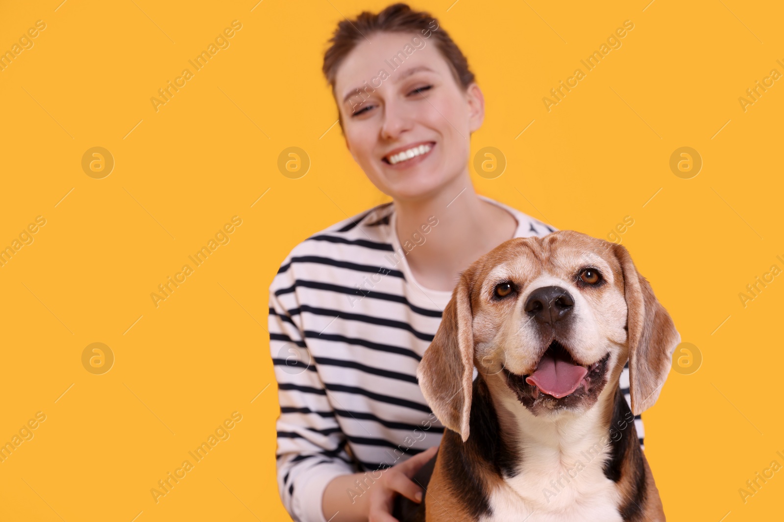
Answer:
<svg viewBox="0 0 784 522"><path fill-rule="evenodd" d="M388 5L378 14L363 11L354 20L341 20L338 23L329 40L332 45L324 53L324 65L321 67L328 84L332 87L332 96L336 103L335 78L343 59L361 40L379 32L428 34L426 38L433 36L436 49L441 52L441 56L444 56L457 85L466 91L474 81L474 73L468 67L468 60L449 34L439 27L438 20L426 11L413 11L407 4L397 3ZM339 117L339 120L340 128L343 129L343 118Z"/></svg>

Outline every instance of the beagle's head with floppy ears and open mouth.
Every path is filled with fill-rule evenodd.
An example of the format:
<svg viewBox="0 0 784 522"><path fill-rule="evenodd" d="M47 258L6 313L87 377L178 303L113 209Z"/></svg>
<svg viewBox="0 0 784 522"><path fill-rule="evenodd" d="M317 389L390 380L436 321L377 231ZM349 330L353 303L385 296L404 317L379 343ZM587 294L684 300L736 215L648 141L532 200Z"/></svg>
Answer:
<svg viewBox="0 0 784 522"><path fill-rule="evenodd" d="M635 415L681 342L625 247L572 230L500 244L461 272L417 369L441 423L466 441L474 366L534 415L584 412L629 361Z"/></svg>

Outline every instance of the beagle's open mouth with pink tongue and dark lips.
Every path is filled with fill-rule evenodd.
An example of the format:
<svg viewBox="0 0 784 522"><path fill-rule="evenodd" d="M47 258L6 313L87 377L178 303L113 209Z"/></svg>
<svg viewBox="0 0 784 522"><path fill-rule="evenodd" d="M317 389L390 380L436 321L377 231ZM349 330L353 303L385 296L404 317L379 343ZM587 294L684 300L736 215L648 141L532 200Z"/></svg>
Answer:
<svg viewBox="0 0 784 522"><path fill-rule="evenodd" d="M525 405L531 407L542 396L559 399L564 406L576 405L583 398L598 396L604 387L608 352L597 362L580 365L557 340L550 343L533 373L517 375L504 368L506 383ZM544 397L543 397L544 398ZM594 397L595 398L595 397ZM530 404L528 404L530 402Z"/></svg>

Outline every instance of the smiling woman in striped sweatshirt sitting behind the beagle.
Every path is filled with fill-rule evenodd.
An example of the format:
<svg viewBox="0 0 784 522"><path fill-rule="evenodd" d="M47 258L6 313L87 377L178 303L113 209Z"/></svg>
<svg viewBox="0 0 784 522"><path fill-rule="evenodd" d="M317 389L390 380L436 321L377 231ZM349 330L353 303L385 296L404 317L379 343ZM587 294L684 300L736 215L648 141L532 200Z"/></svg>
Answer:
<svg viewBox="0 0 784 522"><path fill-rule="evenodd" d="M340 22L331 42L346 146L393 201L299 243L270 285L278 487L301 522L390 521L397 495L422 498L411 479L443 433L416 365L459 272L554 229L474 192L484 99L437 20L390 5Z"/></svg>

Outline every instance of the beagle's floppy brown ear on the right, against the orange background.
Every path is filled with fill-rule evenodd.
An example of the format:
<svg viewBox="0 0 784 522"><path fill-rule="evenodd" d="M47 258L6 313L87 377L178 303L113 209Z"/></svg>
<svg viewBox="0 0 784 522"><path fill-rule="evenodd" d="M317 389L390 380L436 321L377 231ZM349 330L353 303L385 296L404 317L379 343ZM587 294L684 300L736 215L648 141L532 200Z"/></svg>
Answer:
<svg viewBox="0 0 784 522"><path fill-rule="evenodd" d="M614 244L621 264L629 340L629 387L632 412L654 405L670 373L673 351L681 342L673 319L656 299L650 283L637 272L626 247Z"/></svg>

